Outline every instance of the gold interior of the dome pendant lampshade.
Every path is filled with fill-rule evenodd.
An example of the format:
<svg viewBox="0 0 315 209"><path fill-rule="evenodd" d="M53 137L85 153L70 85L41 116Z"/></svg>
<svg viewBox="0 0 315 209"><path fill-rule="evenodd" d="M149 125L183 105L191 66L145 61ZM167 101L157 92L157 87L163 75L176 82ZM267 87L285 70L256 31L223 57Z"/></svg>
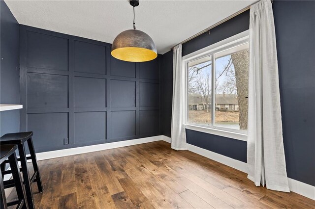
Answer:
<svg viewBox="0 0 315 209"><path fill-rule="evenodd" d="M112 56L128 62L146 62L157 58L157 52L140 47L123 47L114 49Z"/></svg>

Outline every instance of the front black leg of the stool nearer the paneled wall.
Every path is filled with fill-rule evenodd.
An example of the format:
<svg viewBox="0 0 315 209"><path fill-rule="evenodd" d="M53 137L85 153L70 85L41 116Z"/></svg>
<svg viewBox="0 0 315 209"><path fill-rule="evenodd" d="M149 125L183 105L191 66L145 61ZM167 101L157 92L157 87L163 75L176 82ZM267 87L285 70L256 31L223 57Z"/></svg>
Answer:
<svg viewBox="0 0 315 209"><path fill-rule="evenodd" d="M32 185L30 182L30 174L27 167L27 159L26 159L24 143L19 144L18 148L19 148L19 154L20 154L20 159L21 159L21 170L22 170L23 180L24 180L24 185L25 185L26 198L28 200L29 208L34 209Z"/></svg>

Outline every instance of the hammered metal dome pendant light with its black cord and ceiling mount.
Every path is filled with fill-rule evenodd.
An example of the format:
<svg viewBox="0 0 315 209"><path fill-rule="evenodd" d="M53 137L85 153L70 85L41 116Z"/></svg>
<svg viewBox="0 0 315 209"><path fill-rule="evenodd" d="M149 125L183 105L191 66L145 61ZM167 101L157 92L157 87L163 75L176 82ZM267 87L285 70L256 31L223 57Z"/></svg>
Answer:
<svg viewBox="0 0 315 209"><path fill-rule="evenodd" d="M134 23L134 7L139 0L130 0L133 6L133 29L117 35L112 44L112 56L128 62L146 62L157 58L157 47L152 38L145 32L137 30Z"/></svg>

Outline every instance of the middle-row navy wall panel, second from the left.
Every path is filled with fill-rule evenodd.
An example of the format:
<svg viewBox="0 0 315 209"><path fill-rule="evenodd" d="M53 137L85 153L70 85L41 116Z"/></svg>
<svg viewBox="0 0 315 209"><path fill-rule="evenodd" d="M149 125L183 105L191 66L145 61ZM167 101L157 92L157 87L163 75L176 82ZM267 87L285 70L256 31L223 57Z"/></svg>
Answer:
<svg viewBox="0 0 315 209"><path fill-rule="evenodd" d="M106 107L106 79L74 77L74 107Z"/></svg>

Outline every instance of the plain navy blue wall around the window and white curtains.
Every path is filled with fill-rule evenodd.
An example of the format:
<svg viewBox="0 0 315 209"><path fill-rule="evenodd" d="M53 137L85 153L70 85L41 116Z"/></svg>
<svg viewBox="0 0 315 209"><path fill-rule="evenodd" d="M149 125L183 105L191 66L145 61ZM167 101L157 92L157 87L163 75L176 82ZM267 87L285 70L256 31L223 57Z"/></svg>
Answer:
<svg viewBox="0 0 315 209"><path fill-rule="evenodd" d="M284 151L289 178L315 185L315 1L274 1L273 3ZM209 46L249 28L249 11L240 14L183 45L183 55ZM214 32L215 31L215 32ZM172 86L171 53L163 54L161 83ZM163 94L161 94L163 96ZM163 96L164 97L164 96ZM161 101L169 100L169 96ZM171 104L164 109L171 109ZM164 112L163 112L164 114ZM170 124L171 116L163 116ZM170 136L170 127L162 129ZM212 134L186 130L187 142L246 162L247 144Z"/></svg>

